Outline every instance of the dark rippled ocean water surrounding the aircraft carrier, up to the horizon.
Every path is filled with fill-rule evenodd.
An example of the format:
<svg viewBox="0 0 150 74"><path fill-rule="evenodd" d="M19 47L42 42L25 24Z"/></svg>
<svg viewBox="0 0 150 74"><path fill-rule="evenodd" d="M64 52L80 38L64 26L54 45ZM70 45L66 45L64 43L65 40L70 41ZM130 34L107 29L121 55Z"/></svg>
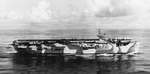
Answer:
<svg viewBox="0 0 150 74"><path fill-rule="evenodd" d="M16 54L10 45L16 39L96 38L97 30L1 30L0 74L150 74L150 30L110 30L108 37L133 38L140 43L139 54L113 61L73 56L28 57Z"/></svg>

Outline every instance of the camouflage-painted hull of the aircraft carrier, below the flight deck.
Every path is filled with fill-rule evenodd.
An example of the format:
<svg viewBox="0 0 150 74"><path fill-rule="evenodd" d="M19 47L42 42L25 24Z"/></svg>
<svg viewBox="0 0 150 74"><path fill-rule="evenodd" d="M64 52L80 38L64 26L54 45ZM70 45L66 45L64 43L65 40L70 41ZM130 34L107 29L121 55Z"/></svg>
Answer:
<svg viewBox="0 0 150 74"><path fill-rule="evenodd" d="M102 45L102 44L101 44ZM106 44L103 44L106 45ZM107 44L107 46L99 47L99 48L87 48L83 49L79 46L74 45L63 45L62 47L53 47L51 49L40 49L40 50L32 50L31 48L18 48L14 46L15 50L19 54L30 54L30 55L95 55L95 56L104 56L104 57L112 57L113 55L122 55L128 54L133 55L136 53L136 43L132 46L127 46L128 51L120 52L120 47L115 47L111 44ZM120 48L120 49L119 49ZM53 50L55 49L55 50ZM56 50L57 49L57 50ZM123 50L123 49L122 49Z"/></svg>

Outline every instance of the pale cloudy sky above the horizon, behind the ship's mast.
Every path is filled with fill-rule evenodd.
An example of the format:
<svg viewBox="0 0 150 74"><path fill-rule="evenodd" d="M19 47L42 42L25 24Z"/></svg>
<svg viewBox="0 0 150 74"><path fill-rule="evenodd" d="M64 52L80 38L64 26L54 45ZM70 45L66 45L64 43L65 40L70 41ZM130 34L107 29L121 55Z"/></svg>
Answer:
<svg viewBox="0 0 150 74"><path fill-rule="evenodd" d="M150 29L149 0L0 0L0 29Z"/></svg>

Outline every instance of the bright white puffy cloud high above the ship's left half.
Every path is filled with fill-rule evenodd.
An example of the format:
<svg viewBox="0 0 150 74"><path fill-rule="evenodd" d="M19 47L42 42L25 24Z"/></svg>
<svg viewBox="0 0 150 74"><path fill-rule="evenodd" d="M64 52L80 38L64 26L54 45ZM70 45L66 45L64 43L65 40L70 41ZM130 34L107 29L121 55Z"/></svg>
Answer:
<svg viewBox="0 0 150 74"><path fill-rule="evenodd" d="M37 6L33 7L31 10L30 18L33 21L40 22L43 20L51 19L51 6L47 1L40 1Z"/></svg>

